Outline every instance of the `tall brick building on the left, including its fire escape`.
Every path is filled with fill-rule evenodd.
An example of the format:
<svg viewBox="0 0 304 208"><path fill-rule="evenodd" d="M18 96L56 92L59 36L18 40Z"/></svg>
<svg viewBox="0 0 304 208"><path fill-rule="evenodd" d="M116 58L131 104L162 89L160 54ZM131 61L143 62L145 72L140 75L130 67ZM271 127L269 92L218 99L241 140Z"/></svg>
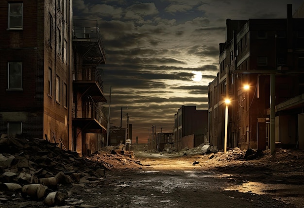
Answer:
<svg viewBox="0 0 304 208"><path fill-rule="evenodd" d="M95 31L99 32L96 25ZM96 80L95 86L91 83L92 87L87 85L93 81L87 81L86 86L73 83L73 80L79 81L79 77L75 79L72 71L83 69L80 66L87 57L91 62L85 64L90 65L90 69L94 68L92 65L104 63L104 57L100 58L102 52L94 53L95 47L82 61L78 59L90 47L87 43L90 37L86 36L77 48L73 47L72 1L3 0L0 2L0 34L0 133L47 138L64 149L87 152L85 144L88 142L83 134L85 123L76 121L81 114L75 116L72 101L78 96L77 101L84 104L84 109L86 100L79 94L85 87L95 90L98 84ZM91 39L102 51L101 40L97 40L96 35ZM99 61L92 60L94 56ZM85 73L93 74L88 71ZM102 88L98 90L95 94L87 90L83 96L93 99L95 104L106 102ZM90 124L85 127L85 133L100 133L103 129Z"/></svg>

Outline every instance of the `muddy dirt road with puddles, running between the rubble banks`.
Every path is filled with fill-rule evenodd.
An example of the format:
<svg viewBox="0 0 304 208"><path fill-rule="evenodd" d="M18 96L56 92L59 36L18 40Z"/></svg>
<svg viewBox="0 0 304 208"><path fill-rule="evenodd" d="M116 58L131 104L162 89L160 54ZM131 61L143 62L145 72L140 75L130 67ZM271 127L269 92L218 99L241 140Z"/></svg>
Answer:
<svg viewBox="0 0 304 208"><path fill-rule="evenodd" d="M110 172L80 196L104 208L303 207L303 179L276 175L263 161L211 162L206 156L135 154L142 166ZM259 165L254 165L258 163ZM273 170L276 172L275 170ZM285 179L284 179L285 178ZM296 183L295 181L298 182Z"/></svg>

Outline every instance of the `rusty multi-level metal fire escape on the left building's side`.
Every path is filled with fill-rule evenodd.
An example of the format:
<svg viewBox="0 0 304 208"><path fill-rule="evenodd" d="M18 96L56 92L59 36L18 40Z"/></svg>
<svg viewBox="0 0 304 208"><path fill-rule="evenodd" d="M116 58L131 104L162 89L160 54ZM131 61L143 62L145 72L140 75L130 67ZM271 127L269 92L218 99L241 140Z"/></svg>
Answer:
<svg viewBox="0 0 304 208"><path fill-rule="evenodd" d="M86 154L86 133L105 134L107 119L101 104L103 94L101 69L105 52L96 20L73 21L73 140L72 147Z"/></svg>

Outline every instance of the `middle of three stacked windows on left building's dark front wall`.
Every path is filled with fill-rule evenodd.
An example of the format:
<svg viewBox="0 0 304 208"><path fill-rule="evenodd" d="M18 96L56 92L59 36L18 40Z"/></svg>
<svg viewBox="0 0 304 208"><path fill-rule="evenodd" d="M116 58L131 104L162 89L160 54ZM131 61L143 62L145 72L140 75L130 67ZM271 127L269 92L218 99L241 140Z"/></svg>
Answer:
<svg viewBox="0 0 304 208"><path fill-rule="evenodd" d="M22 62L8 63L8 89L22 90Z"/></svg>

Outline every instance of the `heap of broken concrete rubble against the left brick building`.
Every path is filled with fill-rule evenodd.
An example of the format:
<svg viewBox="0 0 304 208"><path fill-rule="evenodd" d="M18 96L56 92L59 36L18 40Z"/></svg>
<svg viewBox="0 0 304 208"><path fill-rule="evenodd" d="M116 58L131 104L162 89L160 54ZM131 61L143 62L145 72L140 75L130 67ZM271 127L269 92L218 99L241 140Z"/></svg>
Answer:
<svg viewBox="0 0 304 208"><path fill-rule="evenodd" d="M12 200L12 197L19 199L20 203L16 202L19 208L34 204L43 207L43 202L47 207L71 207L65 206L68 194L58 191L62 185L94 183L105 177L105 170L126 163L140 166L135 159L118 153L111 155L108 152L97 152L81 157L76 152L62 150L44 139L21 136L11 138L3 134L0 138L0 152L0 207ZM115 164L111 163L114 160ZM29 199L31 203L24 202Z"/></svg>

